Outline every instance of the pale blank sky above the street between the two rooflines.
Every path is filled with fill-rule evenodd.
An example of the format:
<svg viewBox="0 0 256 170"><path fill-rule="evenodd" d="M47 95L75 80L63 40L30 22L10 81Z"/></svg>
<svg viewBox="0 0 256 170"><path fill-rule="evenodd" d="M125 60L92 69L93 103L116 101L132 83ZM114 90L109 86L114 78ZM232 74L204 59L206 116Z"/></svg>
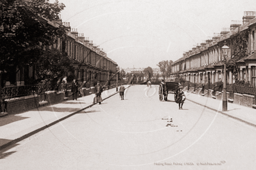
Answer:
<svg viewBox="0 0 256 170"><path fill-rule="evenodd" d="M54 1L54 0L51 0ZM99 45L121 68L158 68L207 40L255 0L58 0L62 22Z"/></svg>

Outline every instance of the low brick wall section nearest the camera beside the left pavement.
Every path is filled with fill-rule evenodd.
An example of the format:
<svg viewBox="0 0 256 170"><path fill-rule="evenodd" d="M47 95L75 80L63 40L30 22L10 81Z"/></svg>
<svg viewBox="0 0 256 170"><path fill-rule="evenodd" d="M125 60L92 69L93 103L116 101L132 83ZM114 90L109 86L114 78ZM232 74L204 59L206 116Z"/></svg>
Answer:
<svg viewBox="0 0 256 170"><path fill-rule="evenodd" d="M8 114L18 114L29 111L38 107L39 100L40 96L29 96L5 100L6 112L8 112Z"/></svg>

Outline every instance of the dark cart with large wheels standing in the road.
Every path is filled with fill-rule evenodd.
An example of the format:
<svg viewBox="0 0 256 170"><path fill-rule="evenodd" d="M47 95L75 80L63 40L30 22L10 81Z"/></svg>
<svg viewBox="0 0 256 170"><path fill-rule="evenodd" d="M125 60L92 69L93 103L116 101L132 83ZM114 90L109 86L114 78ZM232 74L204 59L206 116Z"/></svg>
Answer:
<svg viewBox="0 0 256 170"><path fill-rule="evenodd" d="M178 82L161 82L159 85L159 100L162 101L163 99L167 101L168 93L174 93L175 94L175 100L176 100L176 91L178 89Z"/></svg>

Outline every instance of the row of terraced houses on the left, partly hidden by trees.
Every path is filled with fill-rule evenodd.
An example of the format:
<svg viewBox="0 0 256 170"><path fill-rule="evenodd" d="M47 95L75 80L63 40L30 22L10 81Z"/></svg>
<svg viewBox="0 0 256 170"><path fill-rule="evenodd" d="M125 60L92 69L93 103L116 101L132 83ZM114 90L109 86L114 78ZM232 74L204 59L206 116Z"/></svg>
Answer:
<svg viewBox="0 0 256 170"><path fill-rule="evenodd" d="M117 63L107 57L106 52L99 48L92 40L85 38L83 33L78 33L76 28L71 28L69 22L62 22L62 20L49 21L47 24L58 27L61 24L66 28L66 38L57 38L56 43L46 49L58 49L63 50L69 58L72 59L72 65L74 66L74 78L78 81L90 81L96 79L98 81L107 81L115 76L117 72ZM69 76L70 73L67 73ZM35 74L35 66L23 68L16 73L16 82L24 84L24 77L30 79L37 79Z"/></svg>

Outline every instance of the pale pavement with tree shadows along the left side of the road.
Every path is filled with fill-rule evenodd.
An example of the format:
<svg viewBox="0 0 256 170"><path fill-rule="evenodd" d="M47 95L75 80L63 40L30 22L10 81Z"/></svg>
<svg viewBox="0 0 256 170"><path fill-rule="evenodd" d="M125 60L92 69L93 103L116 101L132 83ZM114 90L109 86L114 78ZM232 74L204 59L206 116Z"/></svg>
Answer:
<svg viewBox="0 0 256 170"><path fill-rule="evenodd" d="M125 88L130 85L124 85ZM103 91L104 100L117 94L116 88ZM15 144L33 134L37 134L74 114L92 107L94 94L80 97L78 100L66 100L59 104L38 107L21 114L7 114L0 117L0 150Z"/></svg>

